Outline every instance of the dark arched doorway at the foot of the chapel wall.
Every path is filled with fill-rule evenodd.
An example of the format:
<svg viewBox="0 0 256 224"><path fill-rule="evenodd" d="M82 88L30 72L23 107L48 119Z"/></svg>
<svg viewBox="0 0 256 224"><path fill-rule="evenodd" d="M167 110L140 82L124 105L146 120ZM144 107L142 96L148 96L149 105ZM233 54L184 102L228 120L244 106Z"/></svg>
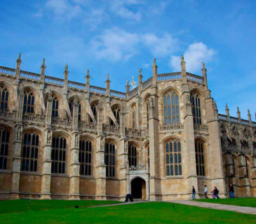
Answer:
<svg viewBox="0 0 256 224"><path fill-rule="evenodd" d="M131 182L131 195L134 199L146 199L146 182L136 177Z"/></svg>

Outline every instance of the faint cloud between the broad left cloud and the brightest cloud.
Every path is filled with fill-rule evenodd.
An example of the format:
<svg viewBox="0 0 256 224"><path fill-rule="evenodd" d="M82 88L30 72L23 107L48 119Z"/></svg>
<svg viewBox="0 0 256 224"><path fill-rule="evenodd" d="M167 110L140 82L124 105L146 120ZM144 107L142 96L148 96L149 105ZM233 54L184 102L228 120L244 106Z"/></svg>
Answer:
<svg viewBox="0 0 256 224"><path fill-rule="evenodd" d="M179 45L179 40L173 38L169 33L164 33L163 37L158 37L154 33L147 33L142 36L142 41L156 57L171 54Z"/></svg>

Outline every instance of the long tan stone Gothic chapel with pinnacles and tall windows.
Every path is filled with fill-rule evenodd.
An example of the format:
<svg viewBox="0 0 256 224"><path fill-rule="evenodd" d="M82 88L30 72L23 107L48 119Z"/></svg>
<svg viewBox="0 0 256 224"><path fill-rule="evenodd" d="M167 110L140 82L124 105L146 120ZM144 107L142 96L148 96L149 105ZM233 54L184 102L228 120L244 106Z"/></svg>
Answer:
<svg viewBox="0 0 256 224"><path fill-rule="evenodd" d="M256 122L218 114L202 76L157 73L126 92L0 67L0 198L256 196Z"/></svg>

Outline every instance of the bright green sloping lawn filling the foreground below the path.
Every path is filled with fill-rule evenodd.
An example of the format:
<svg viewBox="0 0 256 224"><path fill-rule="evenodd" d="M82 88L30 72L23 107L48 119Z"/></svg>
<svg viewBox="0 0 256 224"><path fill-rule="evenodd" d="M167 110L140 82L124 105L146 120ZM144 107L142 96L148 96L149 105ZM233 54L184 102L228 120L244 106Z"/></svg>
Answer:
<svg viewBox="0 0 256 224"><path fill-rule="evenodd" d="M188 205L171 204L167 202L146 202L140 204L116 205L109 207L79 207L70 208L65 203L72 205L85 203L102 203L98 201L46 201L51 204L51 209L38 209L43 203L40 200L33 201L35 205L30 209L19 211L19 205L28 203L25 200L1 202L1 211L5 208L5 203L11 211L0 214L0 223L255 223L256 216L230 211L219 211L214 209L204 209ZM56 209L53 205L56 203ZM108 203L108 202L106 202ZM13 209L12 206L13 204ZM58 204L61 204L58 205ZM42 206L41 206L42 208ZM13 211L12 211L13 210Z"/></svg>

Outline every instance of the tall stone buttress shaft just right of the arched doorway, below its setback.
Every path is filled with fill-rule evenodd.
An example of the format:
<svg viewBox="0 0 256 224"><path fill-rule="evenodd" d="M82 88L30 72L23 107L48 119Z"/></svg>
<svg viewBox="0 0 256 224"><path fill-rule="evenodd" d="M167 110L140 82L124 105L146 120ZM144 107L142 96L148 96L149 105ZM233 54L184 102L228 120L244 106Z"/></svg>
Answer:
<svg viewBox="0 0 256 224"><path fill-rule="evenodd" d="M155 90L156 91L156 90ZM149 154L150 154L150 200L161 199L161 179L159 166L159 119L158 119L158 97L153 95L150 97L149 106Z"/></svg>

